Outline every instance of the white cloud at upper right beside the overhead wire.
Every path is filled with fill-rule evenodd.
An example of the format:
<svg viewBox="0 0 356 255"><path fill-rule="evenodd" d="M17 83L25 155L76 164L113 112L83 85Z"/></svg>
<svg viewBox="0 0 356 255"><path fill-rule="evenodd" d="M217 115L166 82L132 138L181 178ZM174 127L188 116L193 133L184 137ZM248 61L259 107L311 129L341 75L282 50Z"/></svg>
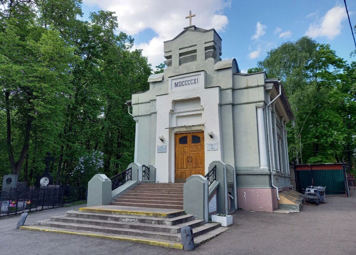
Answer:
<svg viewBox="0 0 356 255"><path fill-rule="evenodd" d="M325 36L329 39L335 38L341 33L341 22L347 19L345 8L335 6L326 12L321 20L309 25L305 35L310 37Z"/></svg>

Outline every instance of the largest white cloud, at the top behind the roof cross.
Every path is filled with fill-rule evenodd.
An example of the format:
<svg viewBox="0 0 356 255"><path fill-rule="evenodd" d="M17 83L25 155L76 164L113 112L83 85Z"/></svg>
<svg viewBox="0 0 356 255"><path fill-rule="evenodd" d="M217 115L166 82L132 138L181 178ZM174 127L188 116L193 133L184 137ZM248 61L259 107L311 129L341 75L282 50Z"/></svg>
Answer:
<svg viewBox="0 0 356 255"><path fill-rule="evenodd" d="M192 18L192 25L201 28L215 28L224 31L229 23L223 15L226 7L230 7L231 0L83 0L84 4L97 5L103 10L115 11L119 23L118 31L132 35L145 29L152 29L157 36L149 42L135 44L134 48L143 49L143 55L155 67L162 63L163 42L173 39L184 27L189 26L189 10L196 16ZM189 8L188 8L188 7ZM202 8L204 6L204 8Z"/></svg>

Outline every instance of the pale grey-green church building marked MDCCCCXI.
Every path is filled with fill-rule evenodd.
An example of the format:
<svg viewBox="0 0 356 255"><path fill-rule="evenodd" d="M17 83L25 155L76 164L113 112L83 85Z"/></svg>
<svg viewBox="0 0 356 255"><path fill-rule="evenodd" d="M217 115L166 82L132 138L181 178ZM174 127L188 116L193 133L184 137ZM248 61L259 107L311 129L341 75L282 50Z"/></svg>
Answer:
<svg viewBox="0 0 356 255"><path fill-rule="evenodd" d="M163 73L127 101L136 121L134 162L153 165L156 182L205 176L212 161L235 167L238 208L272 212L291 188L283 85L264 71L222 60L214 29L189 26L164 42ZM132 108L132 113L131 113Z"/></svg>

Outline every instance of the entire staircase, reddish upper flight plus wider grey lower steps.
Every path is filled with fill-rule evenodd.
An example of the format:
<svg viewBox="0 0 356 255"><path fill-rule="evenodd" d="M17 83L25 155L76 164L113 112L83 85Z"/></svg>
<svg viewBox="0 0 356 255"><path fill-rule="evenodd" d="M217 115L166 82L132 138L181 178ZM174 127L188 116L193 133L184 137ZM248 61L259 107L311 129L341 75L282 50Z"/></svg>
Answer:
<svg viewBox="0 0 356 255"><path fill-rule="evenodd" d="M80 208L21 229L135 241L183 249L180 228L193 229L199 245L228 228L183 210L183 184L142 183L110 205Z"/></svg>

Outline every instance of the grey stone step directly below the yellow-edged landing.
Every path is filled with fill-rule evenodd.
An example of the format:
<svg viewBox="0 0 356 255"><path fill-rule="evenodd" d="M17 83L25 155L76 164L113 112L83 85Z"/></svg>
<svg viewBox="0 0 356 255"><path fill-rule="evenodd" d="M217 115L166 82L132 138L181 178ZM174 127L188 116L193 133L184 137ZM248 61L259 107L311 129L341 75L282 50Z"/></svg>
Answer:
<svg viewBox="0 0 356 255"><path fill-rule="evenodd" d="M68 211L64 214L65 217L70 218L82 218L82 219L96 219L101 221L117 221L117 222L135 222L145 224L157 224L157 225L177 225L194 220L194 215L183 214L173 218L158 218L148 216L137 215L121 215L121 214L104 214L104 213L86 213L79 211Z"/></svg>

